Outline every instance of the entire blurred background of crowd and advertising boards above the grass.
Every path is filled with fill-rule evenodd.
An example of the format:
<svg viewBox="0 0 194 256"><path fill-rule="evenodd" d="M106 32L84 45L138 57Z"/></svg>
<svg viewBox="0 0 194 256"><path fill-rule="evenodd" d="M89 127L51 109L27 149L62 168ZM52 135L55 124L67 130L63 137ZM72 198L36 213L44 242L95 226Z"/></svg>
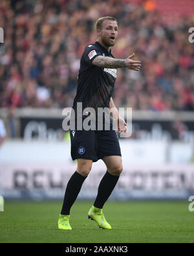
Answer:
<svg viewBox="0 0 194 256"><path fill-rule="evenodd" d="M115 58L135 52L140 72L118 69L113 100L133 108L133 134L120 138L124 171L111 198L187 199L194 194L193 0L0 2L0 194L61 199L76 161L63 108L72 107L94 22L118 19ZM78 198L96 197L105 172L92 166Z"/></svg>

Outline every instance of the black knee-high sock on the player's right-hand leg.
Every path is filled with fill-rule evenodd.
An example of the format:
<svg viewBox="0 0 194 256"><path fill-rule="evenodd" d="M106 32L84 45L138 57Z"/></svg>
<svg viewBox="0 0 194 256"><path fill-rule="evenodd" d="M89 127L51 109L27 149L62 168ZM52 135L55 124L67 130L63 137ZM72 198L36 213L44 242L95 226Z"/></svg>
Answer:
<svg viewBox="0 0 194 256"><path fill-rule="evenodd" d="M96 196L96 200L94 202L94 207L102 209L103 205L111 195L116 183L119 179L119 176L114 176L109 174L107 171L100 181L98 187L98 194Z"/></svg>

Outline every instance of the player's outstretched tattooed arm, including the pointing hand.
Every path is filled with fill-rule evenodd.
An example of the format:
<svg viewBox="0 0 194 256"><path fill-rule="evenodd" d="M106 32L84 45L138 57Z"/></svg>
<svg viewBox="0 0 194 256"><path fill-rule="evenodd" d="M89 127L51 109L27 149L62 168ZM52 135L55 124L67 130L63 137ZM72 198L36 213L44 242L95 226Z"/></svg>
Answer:
<svg viewBox="0 0 194 256"><path fill-rule="evenodd" d="M94 58L94 60L92 60L92 65L113 69L118 69L119 67L127 67L127 69L139 71L141 67L141 62L138 60L132 60L134 56L135 54L133 53L126 59L115 59L100 55Z"/></svg>

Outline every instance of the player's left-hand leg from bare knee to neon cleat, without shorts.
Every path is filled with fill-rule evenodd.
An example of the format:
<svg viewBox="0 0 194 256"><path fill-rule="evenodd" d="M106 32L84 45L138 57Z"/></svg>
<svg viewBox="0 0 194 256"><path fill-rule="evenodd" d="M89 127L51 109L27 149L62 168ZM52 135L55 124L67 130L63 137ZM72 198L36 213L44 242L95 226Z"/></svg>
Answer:
<svg viewBox="0 0 194 256"><path fill-rule="evenodd" d="M85 178L87 178L91 167L92 160L78 159L78 168L76 169L76 172L74 172L74 174L72 174L70 177L65 190L63 206L58 220L59 229L71 229L69 224L70 208L78 197L83 181L85 181Z"/></svg>

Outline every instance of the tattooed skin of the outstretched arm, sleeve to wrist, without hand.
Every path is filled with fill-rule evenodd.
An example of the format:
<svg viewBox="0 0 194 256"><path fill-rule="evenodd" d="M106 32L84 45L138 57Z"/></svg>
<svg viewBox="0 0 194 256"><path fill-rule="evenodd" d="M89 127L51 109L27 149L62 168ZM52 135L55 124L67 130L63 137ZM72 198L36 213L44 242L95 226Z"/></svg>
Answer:
<svg viewBox="0 0 194 256"><path fill-rule="evenodd" d="M92 64L97 65L98 67L109 67L117 69L118 67L125 67L125 60L97 56L92 61Z"/></svg>

